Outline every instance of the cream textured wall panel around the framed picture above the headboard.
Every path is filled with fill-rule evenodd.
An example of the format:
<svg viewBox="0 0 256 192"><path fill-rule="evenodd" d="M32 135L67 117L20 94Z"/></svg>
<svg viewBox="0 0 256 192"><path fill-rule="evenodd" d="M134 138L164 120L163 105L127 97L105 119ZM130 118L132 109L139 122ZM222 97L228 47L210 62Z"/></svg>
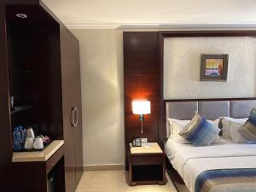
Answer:
<svg viewBox="0 0 256 192"><path fill-rule="evenodd" d="M164 98L256 96L256 38L165 38ZM200 81L201 54L229 54L227 82Z"/></svg>

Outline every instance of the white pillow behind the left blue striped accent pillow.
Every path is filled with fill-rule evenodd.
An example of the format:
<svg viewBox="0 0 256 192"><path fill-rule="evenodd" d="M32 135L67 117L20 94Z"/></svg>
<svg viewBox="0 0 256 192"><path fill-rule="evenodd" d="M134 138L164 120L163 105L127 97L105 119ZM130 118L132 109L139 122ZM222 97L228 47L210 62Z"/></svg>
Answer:
<svg viewBox="0 0 256 192"><path fill-rule="evenodd" d="M218 127L218 122L219 119L215 120L207 120L209 123L212 125ZM169 138L172 138L175 140L177 143L182 143L182 144L189 144L190 142L183 137L181 137L178 133L180 131L183 131L186 125L189 124L190 120L180 120L180 119L168 119L170 129L171 129L171 135ZM226 143L225 140L223 140L220 137L217 137L212 143Z"/></svg>

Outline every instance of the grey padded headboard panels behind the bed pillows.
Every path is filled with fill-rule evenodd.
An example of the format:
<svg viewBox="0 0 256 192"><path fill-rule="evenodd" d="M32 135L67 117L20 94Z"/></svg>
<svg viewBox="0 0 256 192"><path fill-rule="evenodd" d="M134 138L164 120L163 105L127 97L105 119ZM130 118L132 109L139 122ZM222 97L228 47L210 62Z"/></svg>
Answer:
<svg viewBox="0 0 256 192"><path fill-rule="evenodd" d="M247 118L252 108L256 108L256 100L170 101L166 102L166 118L192 119L197 110L206 119Z"/></svg>

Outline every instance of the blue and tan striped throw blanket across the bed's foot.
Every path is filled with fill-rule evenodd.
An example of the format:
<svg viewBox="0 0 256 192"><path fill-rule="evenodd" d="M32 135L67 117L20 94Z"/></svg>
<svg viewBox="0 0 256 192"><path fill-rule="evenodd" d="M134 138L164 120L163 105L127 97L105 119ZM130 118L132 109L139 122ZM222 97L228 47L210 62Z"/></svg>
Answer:
<svg viewBox="0 0 256 192"><path fill-rule="evenodd" d="M201 172L195 192L256 192L256 168L218 169Z"/></svg>

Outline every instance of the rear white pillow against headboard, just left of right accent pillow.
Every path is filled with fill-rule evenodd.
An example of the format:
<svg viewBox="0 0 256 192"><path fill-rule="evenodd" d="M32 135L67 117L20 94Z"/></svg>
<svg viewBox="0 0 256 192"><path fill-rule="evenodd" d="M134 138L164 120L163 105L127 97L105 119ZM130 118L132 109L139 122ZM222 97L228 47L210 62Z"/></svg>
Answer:
<svg viewBox="0 0 256 192"><path fill-rule="evenodd" d="M230 124L232 122L238 124L238 125L244 125L245 122L247 121L247 118L243 118L243 119L236 119L236 118L230 118L230 117L221 117L222 119L222 137L224 137L224 139L230 139L231 135L230 135Z"/></svg>

